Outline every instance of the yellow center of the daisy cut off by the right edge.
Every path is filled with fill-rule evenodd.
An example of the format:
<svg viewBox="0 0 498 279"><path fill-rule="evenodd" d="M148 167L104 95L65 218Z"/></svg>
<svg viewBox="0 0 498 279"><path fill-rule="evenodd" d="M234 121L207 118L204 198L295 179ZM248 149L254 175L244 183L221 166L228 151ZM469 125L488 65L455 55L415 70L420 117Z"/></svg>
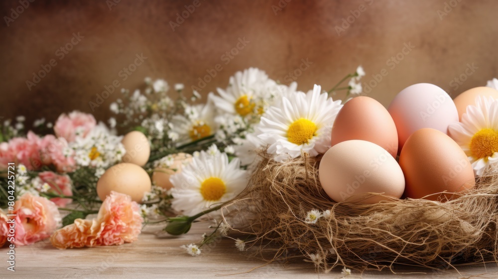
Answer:
<svg viewBox="0 0 498 279"><path fill-rule="evenodd" d="M498 131L489 128L482 129L474 134L469 147L476 158L493 156L495 152L498 152Z"/></svg>

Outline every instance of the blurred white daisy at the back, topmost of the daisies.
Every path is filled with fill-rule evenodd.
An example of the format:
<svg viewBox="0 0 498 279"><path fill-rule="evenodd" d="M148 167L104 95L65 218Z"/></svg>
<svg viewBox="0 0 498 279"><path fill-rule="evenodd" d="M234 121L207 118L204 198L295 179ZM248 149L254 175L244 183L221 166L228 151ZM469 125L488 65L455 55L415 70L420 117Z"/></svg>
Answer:
<svg viewBox="0 0 498 279"><path fill-rule="evenodd" d="M276 82L269 79L264 71L249 68L230 77L227 89L218 88L220 96L213 96L213 99L219 110L246 117L257 113L257 99L267 96L276 86Z"/></svg>

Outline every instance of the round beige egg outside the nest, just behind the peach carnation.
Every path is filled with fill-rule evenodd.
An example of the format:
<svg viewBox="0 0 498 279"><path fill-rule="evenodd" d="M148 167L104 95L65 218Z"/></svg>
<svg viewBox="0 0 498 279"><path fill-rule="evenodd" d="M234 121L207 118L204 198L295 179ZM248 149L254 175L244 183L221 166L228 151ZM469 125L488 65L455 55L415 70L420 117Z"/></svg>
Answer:
<svg viewBox="0 0 498 279"><path fill-rule="evenodd" d="M148 173L132 163L119 163L106 170L97 181L97 194L101 200L111 191L129 195L133 201L141 202L143 194L152 188Z"/></svg>

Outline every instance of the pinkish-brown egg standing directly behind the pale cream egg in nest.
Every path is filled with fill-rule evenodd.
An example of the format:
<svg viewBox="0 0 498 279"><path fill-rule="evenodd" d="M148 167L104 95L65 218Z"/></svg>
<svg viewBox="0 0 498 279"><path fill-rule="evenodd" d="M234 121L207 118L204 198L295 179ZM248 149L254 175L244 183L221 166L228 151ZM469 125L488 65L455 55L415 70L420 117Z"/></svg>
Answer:
<svg viewBox="0 0 498 279"><path fill-rule="evenodd" d="M351 99L344 104L334 121L332 146L351 139L373 142L393 157L398 152L398 133L391 115L370 97Z"/></svg>

